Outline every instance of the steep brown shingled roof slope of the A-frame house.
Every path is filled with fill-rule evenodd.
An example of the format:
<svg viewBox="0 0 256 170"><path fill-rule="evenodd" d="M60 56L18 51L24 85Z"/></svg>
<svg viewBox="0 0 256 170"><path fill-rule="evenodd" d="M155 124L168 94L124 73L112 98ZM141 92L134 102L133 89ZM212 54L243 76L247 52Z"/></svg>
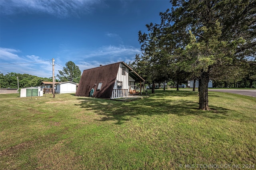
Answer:
<svg viewBox="0 0 256 170"><path fill-rule="evenodd" d="M84 70L76 90L76 96L89 97L91 89L94 88L93 96L97 98L110 98L119 65L120 62ZM96 90L98 83L102 83L100 90Z"/></svg>

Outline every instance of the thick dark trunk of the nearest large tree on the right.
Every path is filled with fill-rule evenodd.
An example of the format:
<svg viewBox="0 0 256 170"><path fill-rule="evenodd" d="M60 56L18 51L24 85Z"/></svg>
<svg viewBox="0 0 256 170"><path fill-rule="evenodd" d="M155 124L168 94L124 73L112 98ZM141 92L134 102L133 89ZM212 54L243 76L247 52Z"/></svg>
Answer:
<svg viewBox="0 0 256 170"><path fill-rule="evenodd" d="M202 72L199 90L199 109L210 110L208 106L208 82L209 82L209 69L207 72Z"/></svg>

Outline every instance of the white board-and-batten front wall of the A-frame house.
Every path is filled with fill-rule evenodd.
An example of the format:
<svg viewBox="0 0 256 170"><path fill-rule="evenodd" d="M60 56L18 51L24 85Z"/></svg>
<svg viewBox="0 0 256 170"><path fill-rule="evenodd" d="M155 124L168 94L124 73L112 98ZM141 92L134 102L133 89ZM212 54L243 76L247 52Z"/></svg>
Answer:
<svg viewBox="0 0 256 170"><path fill-rule="evenodd" d="M125 75L122 74L123 72L122 68L125 68ZM124 66L122 63L120 63L118 68L118 73L116 76L116 82L114 85L114 89L112 91L111 99L129 96L129 88L130 88L129 79L130 78L129 78L129 69L126 66ZM120 85L120 82L122 82L122 89L118 88L118 84Z"/></svg>

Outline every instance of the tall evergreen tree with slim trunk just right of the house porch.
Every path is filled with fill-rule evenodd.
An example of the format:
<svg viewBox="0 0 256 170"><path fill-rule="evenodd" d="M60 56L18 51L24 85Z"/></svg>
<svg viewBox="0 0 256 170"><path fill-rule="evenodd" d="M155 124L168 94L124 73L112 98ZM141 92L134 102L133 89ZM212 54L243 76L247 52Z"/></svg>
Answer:
<svg viewBox="0 0 256 170"><path fill-rule="evenodd" d="M139 42L142 55L136 55L133 63L135 70L142 74L149 84L152 84L154 93L155 83L170 79L169 54L162 50L162 29L159 24L147 24L148 33L139 31Z"/></svg>

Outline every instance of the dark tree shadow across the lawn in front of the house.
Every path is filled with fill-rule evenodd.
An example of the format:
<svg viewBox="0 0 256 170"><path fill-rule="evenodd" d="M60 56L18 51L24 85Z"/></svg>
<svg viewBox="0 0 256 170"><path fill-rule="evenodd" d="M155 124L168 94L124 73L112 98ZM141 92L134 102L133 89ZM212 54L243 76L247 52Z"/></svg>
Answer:
<svg viewBox="0 0 256 170"><path fill-rule="evenodd" d="M198 109L198 102L191 102L184 97L198 96L197 92L190 91L158 91L150 94L149 98L132 102L121 102L100 98L78 98L78 106L92 110L102 118L98 121L117 121L122 124L139 115L165 115L174 114L179 116L198 115L210 119L225 119L228 114L223 107L213 106L212 111ZM180 98L180 99L179 99Z"/></svg>

